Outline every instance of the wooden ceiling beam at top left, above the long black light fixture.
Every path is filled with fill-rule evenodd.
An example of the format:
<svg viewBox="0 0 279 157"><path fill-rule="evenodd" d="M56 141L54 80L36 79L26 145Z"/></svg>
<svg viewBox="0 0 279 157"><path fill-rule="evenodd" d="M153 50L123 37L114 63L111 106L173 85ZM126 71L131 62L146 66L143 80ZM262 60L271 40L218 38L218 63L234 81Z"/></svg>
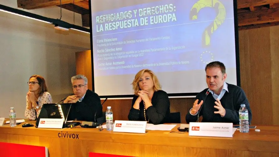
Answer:
<svg viewBox="0 0 279 157"><path fill-rule="evenodd" d="M75 0L75 2L84 0ZM72 3L73 0L61 0L61 4ZM87 1L88 2L88 1ZM23 9L38 9L60 5L60 0L17 0L18 8Z"/></svg>

